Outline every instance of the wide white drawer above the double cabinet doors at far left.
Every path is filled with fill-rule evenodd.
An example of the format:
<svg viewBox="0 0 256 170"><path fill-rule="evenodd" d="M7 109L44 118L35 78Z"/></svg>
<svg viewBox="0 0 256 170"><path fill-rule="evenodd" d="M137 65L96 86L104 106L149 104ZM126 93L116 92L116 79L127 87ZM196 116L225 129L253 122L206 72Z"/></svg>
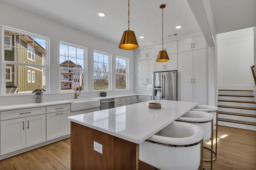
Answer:
<svg viewBox="0 0 256 170"><path fill-rule="evenodd" d="M41 115L45 113L46 113L45 107L1 111L1 121L8 120L8 119L16 119L20 117L33 116L33 115Z"/></svg>

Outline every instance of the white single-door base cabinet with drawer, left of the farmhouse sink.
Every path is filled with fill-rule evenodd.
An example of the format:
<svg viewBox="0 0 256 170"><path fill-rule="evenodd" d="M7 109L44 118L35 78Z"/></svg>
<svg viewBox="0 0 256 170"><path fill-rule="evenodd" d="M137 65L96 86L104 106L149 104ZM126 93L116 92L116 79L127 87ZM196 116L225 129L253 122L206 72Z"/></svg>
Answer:
<svg viewBox="0 0 256 170"><path fill-rule="evenodd" d="M46 107L46 140L70 134L70 104Z"/></svg>

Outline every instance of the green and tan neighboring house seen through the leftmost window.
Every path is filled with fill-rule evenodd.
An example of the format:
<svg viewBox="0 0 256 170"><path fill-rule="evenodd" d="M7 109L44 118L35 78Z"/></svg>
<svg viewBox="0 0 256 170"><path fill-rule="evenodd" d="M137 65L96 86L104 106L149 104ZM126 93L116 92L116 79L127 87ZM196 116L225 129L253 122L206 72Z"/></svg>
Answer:
<svg viewBox="0 0 256 170"><path fill-rule="evenodd" d="M45 62L45 49L32 37L4 32L4 60L40 64ZM6 64L6 94L32 92L36 87L45 88L44 68Z"/></svg>

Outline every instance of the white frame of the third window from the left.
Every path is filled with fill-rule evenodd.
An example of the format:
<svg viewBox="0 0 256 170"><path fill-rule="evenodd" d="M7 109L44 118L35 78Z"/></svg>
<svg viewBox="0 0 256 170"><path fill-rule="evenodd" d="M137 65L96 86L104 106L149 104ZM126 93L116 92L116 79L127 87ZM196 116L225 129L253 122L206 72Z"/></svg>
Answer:
<svg viewBox="0 0 256 170"><path fill-rule="evenodd" d="M111 83L112 83L112 54L110 53L105 53L105 52L102 52L102 51L98 51L98 50L94 50L93 53L99 53L99 54L102 54L102 55L108 55L108 72L104 72L104 71L95 71L94 68L93 68L93 78L94 78L94 73L103 73L103 74L108 74L108 90L94 90L94 83L93 83L93 91L94 92L98 92L98 91L110 91L112 90L112 86L111 86ZM98 63L101 63L98 61ZM93 64L94 64L94 59L93 59Z"/></svg>

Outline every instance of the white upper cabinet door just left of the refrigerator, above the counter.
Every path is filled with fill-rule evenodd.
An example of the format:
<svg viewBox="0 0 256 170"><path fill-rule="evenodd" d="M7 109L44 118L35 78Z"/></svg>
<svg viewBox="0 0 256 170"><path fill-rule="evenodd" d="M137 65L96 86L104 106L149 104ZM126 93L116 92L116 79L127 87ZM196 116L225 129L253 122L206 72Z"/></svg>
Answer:
<svg viewBox="0 0 256 170"><path fill-rule="evenodd" d="M141 61L141 77L142 83L151 84L152 83L152 72L153 72L153 59L142 60Z"/></svg>

